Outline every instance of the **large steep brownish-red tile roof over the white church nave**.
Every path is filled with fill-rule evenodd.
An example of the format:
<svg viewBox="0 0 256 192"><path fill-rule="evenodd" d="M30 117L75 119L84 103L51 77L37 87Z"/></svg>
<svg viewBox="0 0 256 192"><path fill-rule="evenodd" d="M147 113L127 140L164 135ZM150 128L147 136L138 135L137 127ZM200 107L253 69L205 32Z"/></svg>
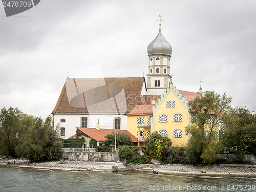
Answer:
<svg viewBox="0 0 256 192"><path fill-rule="evenodd" d="M144 77L68 78L53 114L127 114L138 104Z"/></svg>

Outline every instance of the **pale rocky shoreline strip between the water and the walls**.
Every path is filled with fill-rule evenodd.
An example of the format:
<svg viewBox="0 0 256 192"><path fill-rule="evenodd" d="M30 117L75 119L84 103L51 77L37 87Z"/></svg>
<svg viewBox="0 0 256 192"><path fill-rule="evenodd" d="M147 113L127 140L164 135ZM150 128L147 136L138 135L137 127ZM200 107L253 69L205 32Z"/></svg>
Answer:
<svg viewBox="0 0 256 192"><path fill-rule="evenodd" d="M155 165L155 164L128 164L121 162L82 162L82 161L50 161L30 163L26 159L0 159L0 165L52 169L70 171L112 172L112 166L117 166L118 171L138 171L154 174L170 175L205 175L205 176L246 176L256 177L256 165L244 164L218 164L218 165Z"/></svg>

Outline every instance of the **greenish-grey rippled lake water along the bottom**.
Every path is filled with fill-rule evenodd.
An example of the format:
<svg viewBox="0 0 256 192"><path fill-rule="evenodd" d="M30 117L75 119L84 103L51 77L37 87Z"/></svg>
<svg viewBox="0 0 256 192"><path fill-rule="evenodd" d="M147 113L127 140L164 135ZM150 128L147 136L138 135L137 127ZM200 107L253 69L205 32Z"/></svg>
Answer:
<svg viewBox="0 0 256 192"><path fill-rule="evenodd" d="M0 191L256 191L254 177L71 172L0 166ZM162 190L161 190L162 189Z"/></svg>

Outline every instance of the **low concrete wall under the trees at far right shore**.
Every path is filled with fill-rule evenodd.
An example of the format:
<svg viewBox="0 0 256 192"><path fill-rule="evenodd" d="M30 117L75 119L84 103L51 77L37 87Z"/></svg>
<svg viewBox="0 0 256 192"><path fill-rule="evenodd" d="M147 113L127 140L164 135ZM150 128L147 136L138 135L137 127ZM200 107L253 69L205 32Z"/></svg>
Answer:
<svg viewBox="0 0 256 192"><path fill-rule="evenodd" d="M255 155L245 155L245 159L242 161L240 161L234 154L217 154L217 158L222 163L256 164Z"/></svg>

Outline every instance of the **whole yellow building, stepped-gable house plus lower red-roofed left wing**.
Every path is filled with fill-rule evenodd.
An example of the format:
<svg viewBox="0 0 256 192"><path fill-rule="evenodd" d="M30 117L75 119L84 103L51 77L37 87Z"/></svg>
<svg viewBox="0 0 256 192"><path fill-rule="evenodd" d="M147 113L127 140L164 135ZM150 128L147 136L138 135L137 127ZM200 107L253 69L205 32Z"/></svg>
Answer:
<svg viewBox="0 0 256 192"><path fill-rule="evenodd" d="M170 83L156 104L137 105L127 114L127 131L138 138L138 146L144 146L146 137L155 131L162 136L167 135L173 146L186 144L189 137L185 134L185 127L191 122L187 102L196 97L203 96L201 93L177 90Z"/></svg>

